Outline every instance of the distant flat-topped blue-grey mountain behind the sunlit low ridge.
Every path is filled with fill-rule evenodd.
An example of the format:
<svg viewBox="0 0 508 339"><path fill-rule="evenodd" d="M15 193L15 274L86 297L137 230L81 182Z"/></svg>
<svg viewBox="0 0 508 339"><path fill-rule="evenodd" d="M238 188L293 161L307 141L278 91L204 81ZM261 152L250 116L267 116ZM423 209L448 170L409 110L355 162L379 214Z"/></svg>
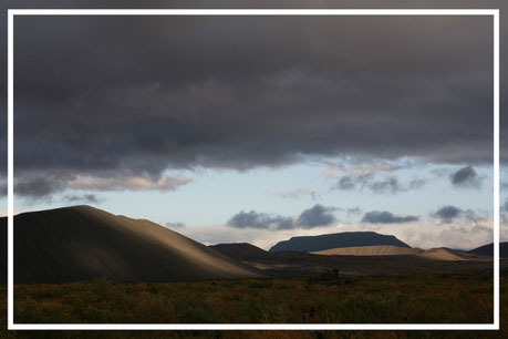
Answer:
<svg viewBox="0 0 508 339"><path fill-rule="evenodd" d="M270 251L304 250L319 251L341 247L381 246L411 247L393 235L382 235L375 232L343 232L319 236L292 237L277 243Z"/></svg>

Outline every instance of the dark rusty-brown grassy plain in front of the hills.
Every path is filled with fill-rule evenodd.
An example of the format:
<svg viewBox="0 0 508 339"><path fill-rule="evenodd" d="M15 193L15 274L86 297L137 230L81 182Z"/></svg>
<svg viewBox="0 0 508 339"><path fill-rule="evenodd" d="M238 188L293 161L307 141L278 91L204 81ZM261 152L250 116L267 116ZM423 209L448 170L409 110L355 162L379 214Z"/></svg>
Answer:
<svg viewBox="0 0 508 339"><path fill-rule="evenodd" d="M216 280L118 284L104 279L23 285L14 289L15 322L392 322L488 323L493 321L493 276L426 275L359 277L349 284L309 284L305 279ZM508 287L501 279L501 291ZM2 288L2 327L6 287ZM508 305L501 295L502 317ZM48 333L48 332L46 332ZM71 332L69 337L76 337ZM92 332L87 332L91 335ZM146 332L186 338L235 338L240 332ZM258 332L260 333L260 332ZM272 338L433 338L438 332L262 332ZM427 333L427 335L425 335ZM23 336L21 332L12 336ZM33 337L34 332L30 333ZM103 332L108 337L113 332ZM122 332L122 336L129 336ZM243 332L256 336L256 332ZM361 336L360 336L361 335ZM438 337L498 337L499 332L440 332ZM484 336L485 335L485 336ZM66 337L65 332L59 336ZM113 337L118 337L116 332ZM142 336L137 332L136 336ZM232 337L231 337L232 336ZM381 336L381 337L380 337ZM1 336L0 336L1 337Z"/></svg>

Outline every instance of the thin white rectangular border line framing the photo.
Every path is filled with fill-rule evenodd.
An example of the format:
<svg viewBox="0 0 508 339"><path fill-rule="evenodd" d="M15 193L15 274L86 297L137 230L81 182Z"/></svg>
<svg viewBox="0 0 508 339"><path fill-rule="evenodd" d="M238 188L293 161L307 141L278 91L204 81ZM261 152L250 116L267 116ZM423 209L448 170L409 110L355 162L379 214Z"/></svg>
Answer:
<svg viewBox="0 0 508 339"><path fill-rule="evenodd" d="M494 31L493 323L14 323L14 51L17 16L487 16ZM8 330L499 330L499 9L9 9L8 10Z"/></svg>

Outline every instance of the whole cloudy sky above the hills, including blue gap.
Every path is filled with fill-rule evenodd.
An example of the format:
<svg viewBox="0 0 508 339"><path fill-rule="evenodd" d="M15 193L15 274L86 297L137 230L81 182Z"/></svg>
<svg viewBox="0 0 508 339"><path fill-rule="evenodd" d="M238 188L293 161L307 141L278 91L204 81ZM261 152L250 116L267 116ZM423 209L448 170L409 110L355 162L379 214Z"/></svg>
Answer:
<svg viewBox="0 0 508 339"><path fill-rule="evenodd" d="M14 207L263 248L491 243L491 33L486 17L17 18Z"/></svg>

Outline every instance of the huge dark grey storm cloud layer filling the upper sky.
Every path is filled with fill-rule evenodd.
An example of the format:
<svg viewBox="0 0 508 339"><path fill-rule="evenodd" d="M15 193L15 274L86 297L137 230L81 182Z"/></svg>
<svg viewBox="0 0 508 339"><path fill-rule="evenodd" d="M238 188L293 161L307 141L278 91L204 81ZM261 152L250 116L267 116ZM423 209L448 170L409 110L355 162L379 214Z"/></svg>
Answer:
<svg viewBox="0 0 508 339"><path fill-rule="evenodd" d="M19 175L491 160L490 18L20 17L14 31Z"/></svg>

